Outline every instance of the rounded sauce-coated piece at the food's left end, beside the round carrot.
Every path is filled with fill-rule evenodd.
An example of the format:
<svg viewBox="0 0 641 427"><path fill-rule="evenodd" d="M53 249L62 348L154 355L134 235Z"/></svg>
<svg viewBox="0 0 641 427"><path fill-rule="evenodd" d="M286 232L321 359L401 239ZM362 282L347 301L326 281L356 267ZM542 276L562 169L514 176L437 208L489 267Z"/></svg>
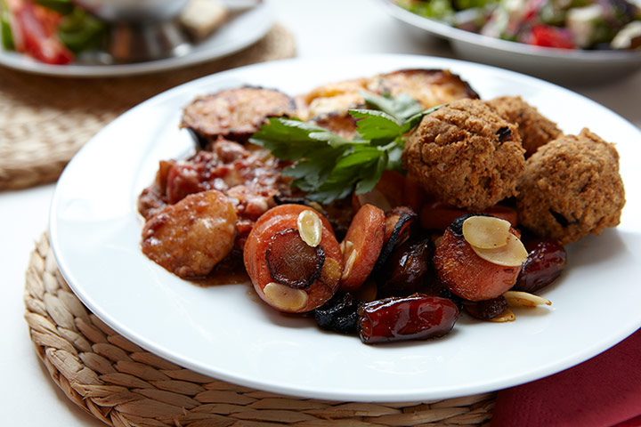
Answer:
<svg viewBox="0 0 641 427"><path fill-rule="evenodd" d="M181 278L202 278L231 252L236 211L220 191L184 197L142 229L142 253Z"/></svg>

